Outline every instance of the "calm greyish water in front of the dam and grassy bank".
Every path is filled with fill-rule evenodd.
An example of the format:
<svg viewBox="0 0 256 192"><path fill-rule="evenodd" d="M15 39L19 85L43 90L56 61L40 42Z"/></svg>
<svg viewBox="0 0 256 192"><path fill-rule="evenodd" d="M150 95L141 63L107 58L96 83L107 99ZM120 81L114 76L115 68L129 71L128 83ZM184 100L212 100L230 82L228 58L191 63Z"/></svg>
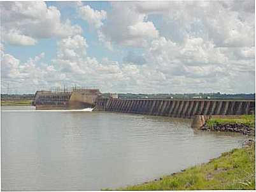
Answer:
<svg viewBox="0 0 256 192"><path fill-rule="evenodd" d="M241 146L240 134L190 120L1 108L2 190L97 190L138 184Z"/></svg>

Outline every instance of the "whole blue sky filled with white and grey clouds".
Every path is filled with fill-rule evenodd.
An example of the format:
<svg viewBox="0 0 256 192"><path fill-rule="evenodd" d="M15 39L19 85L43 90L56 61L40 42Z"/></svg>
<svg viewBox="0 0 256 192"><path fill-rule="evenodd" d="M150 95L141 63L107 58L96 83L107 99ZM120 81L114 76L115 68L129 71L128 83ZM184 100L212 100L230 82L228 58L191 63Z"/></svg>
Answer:
<svg viewBox="0 0 256 192"><path fill-rule="evenodd" d="M254 1L1 2L1 93L255 93Z"/></svg>

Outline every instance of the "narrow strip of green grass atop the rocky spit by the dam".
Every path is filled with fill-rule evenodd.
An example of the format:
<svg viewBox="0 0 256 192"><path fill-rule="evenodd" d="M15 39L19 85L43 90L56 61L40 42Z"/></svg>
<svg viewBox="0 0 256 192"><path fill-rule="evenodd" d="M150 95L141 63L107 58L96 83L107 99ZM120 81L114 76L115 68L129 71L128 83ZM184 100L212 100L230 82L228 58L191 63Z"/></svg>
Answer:
<svg viewBox="0 0 256 192"><path fill-rule="evenodd" d="M218 124L243 124L255 129L255 115L241 115L236 118L210 118L206 122L208 127L213 127Z"/></svg>

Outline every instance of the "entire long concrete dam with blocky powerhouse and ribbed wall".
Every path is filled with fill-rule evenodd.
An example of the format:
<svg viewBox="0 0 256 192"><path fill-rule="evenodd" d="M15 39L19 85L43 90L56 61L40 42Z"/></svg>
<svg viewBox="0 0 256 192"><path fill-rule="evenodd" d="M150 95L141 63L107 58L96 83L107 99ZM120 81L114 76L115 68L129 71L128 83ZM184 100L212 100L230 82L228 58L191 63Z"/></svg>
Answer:
<svg viewBox="0 0 256 192"><path fill-rule="evenodd" d="M99 89L76 87L70 91L37 91L34 105L38 110L94 108L95 111L193 118L199 122L196 127L213 115L255 114L255 99L103 98Z"/></svg>

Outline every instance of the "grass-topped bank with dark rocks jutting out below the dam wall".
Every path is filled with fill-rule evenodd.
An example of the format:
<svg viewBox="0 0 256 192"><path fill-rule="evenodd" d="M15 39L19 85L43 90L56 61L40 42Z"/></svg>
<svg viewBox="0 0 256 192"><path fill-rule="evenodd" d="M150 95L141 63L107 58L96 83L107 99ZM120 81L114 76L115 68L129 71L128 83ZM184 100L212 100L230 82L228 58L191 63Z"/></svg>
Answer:
<svg viewBox="0 0 256 192"><path fill-rule="evenodd" d="M255 115L239 115L236 117L212 117L200 127L202 131L240 132L247 136L255 136Z"/></svg>

